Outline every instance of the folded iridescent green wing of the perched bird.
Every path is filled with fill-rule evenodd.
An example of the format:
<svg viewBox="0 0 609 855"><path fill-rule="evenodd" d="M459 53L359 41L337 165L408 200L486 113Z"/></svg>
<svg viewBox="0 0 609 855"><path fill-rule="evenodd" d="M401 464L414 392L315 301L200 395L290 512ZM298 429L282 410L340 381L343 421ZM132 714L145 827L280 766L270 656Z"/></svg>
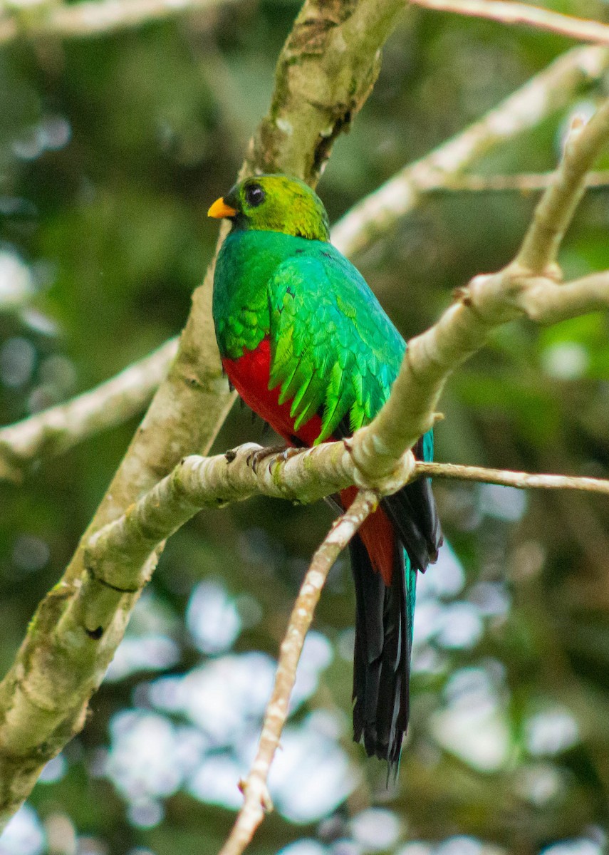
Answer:
<svg viewBox="0 0 609 855"><path fill-rule="evenodd" d="M280 403L292 402L294 429L318 413L322 442L346 416L352 430L370 422L405 344L358 270L314 244L276 269L268 291L269 388L281 386Z"/></svg>

